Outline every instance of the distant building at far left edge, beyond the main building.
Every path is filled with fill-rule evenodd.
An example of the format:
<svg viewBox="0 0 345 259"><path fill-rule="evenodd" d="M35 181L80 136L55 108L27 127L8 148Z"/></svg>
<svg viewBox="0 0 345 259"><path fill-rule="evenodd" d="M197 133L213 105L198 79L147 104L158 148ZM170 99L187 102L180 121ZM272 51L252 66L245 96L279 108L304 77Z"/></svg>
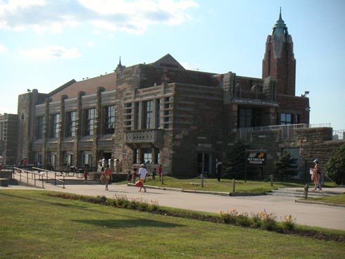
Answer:
<svg viewBox="0 0 345 259"><path fill-rule="evenodd" d="M0 114L0 163L15 165L17 158L18 115Z"/></svg>

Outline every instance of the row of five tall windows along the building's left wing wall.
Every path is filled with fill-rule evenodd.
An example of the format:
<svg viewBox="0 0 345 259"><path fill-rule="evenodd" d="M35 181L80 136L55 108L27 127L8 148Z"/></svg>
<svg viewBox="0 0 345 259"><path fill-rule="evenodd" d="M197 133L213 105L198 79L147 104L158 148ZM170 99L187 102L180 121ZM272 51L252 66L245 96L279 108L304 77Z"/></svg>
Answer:
<svg viewBox="0 0 345 259"><path fill-rule="evenodd" d="M96 116L96 108L83 110L82 115L82 135L94 135L94 122ZM52 114L49 116L49 137L57 138L60 129L61 115L60 113ZM103 108L103 134L113 134L115 132L115 106L106 106ZM44 126L46 125L46 117L37 117L37 130L36 138L42 139L44 134ZM75 137L77 132L77 111L73 110L65 113L65 137Z"/></svg>

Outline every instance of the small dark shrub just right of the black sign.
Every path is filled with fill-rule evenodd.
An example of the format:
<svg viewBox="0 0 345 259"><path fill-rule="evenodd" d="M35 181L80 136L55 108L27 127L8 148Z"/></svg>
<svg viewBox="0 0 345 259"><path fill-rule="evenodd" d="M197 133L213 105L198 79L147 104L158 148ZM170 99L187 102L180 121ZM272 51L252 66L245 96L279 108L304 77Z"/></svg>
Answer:
<svg viewBox="0 0 345 259"><path fill-rule="evenodd" d="M284 155L275 162L276 172L280 175L280 179L297 175L297 166L297 158L292 157L287 151L284 151Z"/></svg>

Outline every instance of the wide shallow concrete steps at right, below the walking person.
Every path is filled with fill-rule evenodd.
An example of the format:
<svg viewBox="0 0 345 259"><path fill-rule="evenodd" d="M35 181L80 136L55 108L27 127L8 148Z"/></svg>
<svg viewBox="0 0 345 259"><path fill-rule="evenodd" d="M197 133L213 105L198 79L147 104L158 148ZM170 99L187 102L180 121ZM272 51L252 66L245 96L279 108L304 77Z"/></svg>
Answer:
<svg viewBox="0 0 345 259"><path fill-rule="evenodd" d="M273 196L289 196L295 198L304 198L304 189L293 189L293 188L278 188L277 190L272 190L266 193L267 195ZM336 196L342 194L339 191L311 191L309 188L308 197L325 197L325 196Z"/></svg>

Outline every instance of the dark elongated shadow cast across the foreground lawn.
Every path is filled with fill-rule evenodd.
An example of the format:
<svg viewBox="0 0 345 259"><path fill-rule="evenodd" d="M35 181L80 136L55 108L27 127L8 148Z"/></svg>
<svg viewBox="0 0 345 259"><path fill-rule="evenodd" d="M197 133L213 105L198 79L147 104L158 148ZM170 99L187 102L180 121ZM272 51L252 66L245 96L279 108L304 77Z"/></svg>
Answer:
<svg viewBox="0 0 345 259"><path fill-rule="evenodd" d="M184 227L184 225L173 224L158 220L131 219L131 220L73 220L78 223L94 225L99 227Z"/></svg>

